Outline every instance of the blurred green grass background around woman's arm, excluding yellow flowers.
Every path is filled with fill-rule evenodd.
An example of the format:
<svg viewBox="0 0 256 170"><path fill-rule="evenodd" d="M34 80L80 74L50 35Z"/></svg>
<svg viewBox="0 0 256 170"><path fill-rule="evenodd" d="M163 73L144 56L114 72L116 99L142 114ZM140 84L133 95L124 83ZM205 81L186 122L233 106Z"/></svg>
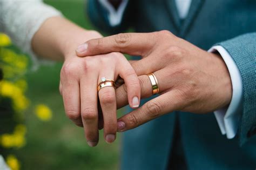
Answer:
<svg viewBox="0 0 256 170"><path fill-rule="evenodd" d="M45 1L62 11L66 18L85 29L93 29L85 13L85 1ZM49 122L36 120L35 115L26 116L27 143L18 153L22 169L118 169L120 134L113 144L106 144L100 132L97 147L89 147L83 129L65 117L62 97L59 94L59 72L62 63L41 66L27 74L28 97L31 107L26 114L34 114L36 104L48 105L53 117Z"/></svg>

